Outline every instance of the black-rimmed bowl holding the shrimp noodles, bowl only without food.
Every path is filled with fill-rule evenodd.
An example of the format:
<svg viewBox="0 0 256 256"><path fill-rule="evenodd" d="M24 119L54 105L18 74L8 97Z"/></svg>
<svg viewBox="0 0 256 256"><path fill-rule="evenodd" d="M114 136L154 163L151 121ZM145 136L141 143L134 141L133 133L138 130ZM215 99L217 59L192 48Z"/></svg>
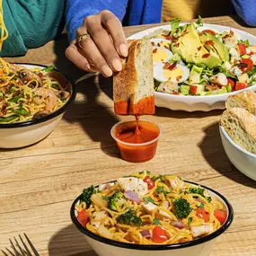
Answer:
<svg viewBox="0 0 256 256"><path fill-rule="evenodd" d="M16 63L26 68L39 67L43 69L47 66L36 64ZM18 148L30 146L49 136L58 122L62 119L66 109L75 100L75 84L58 70L49 73L58 80L59 83L66 83L69 86L70 97L66 104L60 109L50 113L48 116L33 119L26 122L17 122L12 124L0 124L0 148Z"/></svg>

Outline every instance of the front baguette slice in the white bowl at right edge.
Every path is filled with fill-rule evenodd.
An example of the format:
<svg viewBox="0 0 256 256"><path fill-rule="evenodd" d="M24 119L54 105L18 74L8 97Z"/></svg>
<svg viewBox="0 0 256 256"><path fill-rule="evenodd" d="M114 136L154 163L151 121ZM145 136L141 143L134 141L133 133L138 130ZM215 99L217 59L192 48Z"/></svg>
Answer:
<svg viewBox="0 0 256 256"><path fill-rule="evenodd" d="M256 116L243 108L225 110L221 125L234 142L256 154Z"/></svg>

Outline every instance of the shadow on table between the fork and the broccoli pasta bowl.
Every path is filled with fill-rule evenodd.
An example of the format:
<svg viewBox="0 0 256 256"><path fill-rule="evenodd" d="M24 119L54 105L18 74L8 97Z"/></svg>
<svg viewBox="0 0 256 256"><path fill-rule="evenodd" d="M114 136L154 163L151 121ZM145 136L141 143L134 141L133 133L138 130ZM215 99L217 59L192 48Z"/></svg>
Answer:
<svg viewBox="0 0 256 256"><path fill-rule="evenodd" d="M67 225L53 234L49 240L48 251L49 256L97 256L86 242L84 234L75 225Z"/></svg>

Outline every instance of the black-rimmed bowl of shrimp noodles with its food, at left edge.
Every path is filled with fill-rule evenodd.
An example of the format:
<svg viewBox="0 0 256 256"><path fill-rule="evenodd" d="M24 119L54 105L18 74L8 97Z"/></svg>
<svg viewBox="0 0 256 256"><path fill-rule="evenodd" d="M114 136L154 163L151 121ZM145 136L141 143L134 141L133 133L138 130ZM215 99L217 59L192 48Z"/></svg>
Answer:
<svg viewBox="0 0 256 256"><path fill-rule="evenodd" d="M75 100L75 84L53 66L0 58L0 147L30 146L56 128Z"/></svg>

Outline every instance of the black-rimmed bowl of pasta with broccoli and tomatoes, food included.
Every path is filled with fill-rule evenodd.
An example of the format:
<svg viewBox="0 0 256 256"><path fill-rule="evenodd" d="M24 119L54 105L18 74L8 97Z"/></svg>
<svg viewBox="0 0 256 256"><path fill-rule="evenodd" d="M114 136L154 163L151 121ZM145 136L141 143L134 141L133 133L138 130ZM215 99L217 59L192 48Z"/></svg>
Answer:
<svg viewBox="0 0 256 256"><path fill-rule="evenodd" d="M199 256L208 255L234 211L215 190L144 171L84 189L71 218L100 256Z"/></svg>

